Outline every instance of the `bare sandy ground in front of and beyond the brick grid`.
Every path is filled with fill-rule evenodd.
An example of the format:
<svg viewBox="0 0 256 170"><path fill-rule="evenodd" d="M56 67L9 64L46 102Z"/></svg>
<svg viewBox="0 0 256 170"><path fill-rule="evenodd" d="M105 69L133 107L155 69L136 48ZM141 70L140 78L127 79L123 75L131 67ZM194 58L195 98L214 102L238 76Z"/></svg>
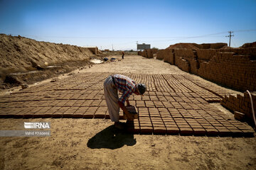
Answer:
<svg viewBox="0 0 256 170"><path fill-rule="evenodd" d="M188 74L136 56L73 74L78 72ZM67 74L58 78L67 79ZM213 105L233 116L220 104ZM25 121L50 122L50 137L1 137L0 169L256 169L255 137L131 135L114 130L110 120L71 118L0 119L0 130L23 130Z"/></svg>

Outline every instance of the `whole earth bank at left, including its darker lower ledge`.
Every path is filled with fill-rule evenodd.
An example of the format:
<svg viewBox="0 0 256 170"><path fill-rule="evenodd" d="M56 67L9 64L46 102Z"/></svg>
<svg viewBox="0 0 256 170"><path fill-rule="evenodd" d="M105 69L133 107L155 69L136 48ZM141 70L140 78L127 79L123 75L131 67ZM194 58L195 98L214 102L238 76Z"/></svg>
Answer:
<svg viewBox="0 0 256 170"><path fill-rule="evenodd" d="M33 84L85 68L90 59L101 59L107 54L94 55L85 47L39 42L21 36L0 34L0 89Z"/></svg>

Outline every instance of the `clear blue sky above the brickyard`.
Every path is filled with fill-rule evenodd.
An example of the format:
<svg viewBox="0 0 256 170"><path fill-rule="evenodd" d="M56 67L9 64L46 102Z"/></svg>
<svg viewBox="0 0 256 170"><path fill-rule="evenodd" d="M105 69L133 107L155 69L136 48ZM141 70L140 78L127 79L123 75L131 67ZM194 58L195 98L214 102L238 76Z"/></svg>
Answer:
<svg viewBox="0 0 256 170"><path fill-rule="evenodd" d="M178 42L256 41L255 0L0 0L0 33L100 49L164 49Z"/></svg>

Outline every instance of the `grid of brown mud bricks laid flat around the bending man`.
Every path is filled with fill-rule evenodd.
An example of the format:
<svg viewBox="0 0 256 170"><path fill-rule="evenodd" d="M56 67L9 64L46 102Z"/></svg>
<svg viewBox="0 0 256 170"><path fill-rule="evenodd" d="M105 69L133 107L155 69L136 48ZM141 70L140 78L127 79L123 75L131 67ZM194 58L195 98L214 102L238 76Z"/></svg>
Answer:
<svg viewBox="0 0 256 170"><path fill-rule="evenodd" d="M109 119L102 88L110 74L77 74L1 96L0 118ZM124 75L147 86L144 96L129 98L139 114L137 120L128 123L129 132L209 136L247 136L254 132L210 105L228 94L222 87L197 85L187 74Z"/></svg>

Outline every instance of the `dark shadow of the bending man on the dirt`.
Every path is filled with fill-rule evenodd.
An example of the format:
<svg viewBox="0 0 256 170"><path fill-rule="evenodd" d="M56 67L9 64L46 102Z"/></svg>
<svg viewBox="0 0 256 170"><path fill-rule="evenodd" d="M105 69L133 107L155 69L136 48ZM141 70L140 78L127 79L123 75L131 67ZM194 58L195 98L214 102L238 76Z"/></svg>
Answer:
<svg viewBox="0 0 256 170"><path fill-rule="evenodd" d="M87 142L87 147L91 149L117 149L124 145L133 146L136 142L133 134L123 130L117 130L114 128L114 125L111 125L90 138Z"/></svg>

